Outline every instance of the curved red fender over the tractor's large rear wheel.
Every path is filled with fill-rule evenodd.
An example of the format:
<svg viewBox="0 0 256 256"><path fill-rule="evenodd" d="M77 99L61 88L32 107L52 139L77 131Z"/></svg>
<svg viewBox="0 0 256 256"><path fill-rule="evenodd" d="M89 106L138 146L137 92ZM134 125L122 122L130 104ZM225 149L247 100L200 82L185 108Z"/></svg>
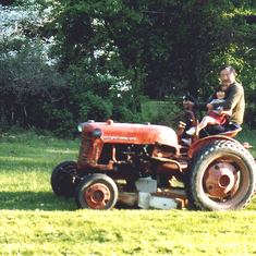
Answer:
<svg viewBox="0 0 256 256"><path fill-rule="evenodd" d="M204 147L206 144L214 143L216 141L231 141L231 142L239 143L237 141L233 139L232 137L228 137L228 136L221 136L221 135L207 136L204 138L199 138L198 141L193 143L187 151L187 156L190 158L193 158L193 156L195 155L195 153L199 148Z"/></svg>

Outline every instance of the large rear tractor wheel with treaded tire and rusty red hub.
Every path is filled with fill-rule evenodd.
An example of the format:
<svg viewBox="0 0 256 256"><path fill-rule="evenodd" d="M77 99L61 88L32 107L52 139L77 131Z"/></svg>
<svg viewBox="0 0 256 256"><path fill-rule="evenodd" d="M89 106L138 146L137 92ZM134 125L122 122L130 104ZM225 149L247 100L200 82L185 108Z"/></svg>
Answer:
<svg viewBox="0 0 256 256"><path fill-rule="evenodd" d="M200 210L244 208L255 194L255 161L241 144L218 141L193 157L186 176L190 204Z"/></svg>

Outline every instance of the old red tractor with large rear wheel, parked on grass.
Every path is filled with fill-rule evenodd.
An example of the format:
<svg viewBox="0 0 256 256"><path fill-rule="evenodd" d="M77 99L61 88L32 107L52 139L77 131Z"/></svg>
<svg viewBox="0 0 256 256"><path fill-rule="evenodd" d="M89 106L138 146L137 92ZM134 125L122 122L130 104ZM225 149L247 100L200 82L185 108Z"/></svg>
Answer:
<svg viewBox="0 0 256 256"><path fill-rule="evenodd" d="M191 110L174 119L183 115L197 124ZM248 146L232 138L239 131L194 135L186 145L182 129L112 120L82 123L78 159L54 168L52 190L90 209L111 209L118 202L145 209L187 204L200 210L244 208L255 194L256 164Z"/></svg>

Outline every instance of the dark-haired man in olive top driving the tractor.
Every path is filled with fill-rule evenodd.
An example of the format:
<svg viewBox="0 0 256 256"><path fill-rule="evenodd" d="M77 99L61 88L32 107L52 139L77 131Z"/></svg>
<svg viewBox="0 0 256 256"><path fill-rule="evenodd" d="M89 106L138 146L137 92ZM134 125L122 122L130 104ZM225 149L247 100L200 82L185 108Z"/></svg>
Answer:
<svg viewBox="0 0 256 256"><path fill-rule="evenodd" d="M228 131L234 131L241 127L244 119L245 99L244 89L236 81L235 70L231 65L224 65L220 69L221 85L227 87L225 101L221 103L209 103L212 97L204 103L198 103L202 110L212 110L220 106L223 110L232 110L232 114L228 118L228 122L223 125L208 125L200 131L199 136L205 137L207 135L215 135ZM194 102L184 101L184 107L194 107Z"/></svg>

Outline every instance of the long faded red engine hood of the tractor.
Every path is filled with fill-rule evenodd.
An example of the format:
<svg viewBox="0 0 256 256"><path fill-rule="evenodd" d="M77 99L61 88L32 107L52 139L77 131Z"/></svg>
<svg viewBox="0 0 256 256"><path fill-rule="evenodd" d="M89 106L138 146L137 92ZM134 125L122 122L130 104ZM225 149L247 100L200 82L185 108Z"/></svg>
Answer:
<svg viewBox="0 0 256 256"><path fill-rule="evenodd" d="M163 125L114 123L87 121L80 124L80 131L86 135L92 133L95 138L103 143L112 144L156 144L178 147L178 135L175 131Z"/></svg>

